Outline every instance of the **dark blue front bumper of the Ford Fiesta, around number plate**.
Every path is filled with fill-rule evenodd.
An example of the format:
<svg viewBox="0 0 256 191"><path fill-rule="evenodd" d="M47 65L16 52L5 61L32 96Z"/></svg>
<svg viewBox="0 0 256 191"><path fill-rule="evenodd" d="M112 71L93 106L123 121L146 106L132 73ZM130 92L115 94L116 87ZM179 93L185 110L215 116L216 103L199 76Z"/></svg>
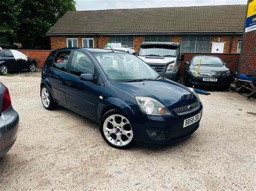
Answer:
<svg viewBox="0 0 256 191"><path fill-rule="evenodd" d="M183 128L184 120L193 117L197 114L203 114L203 106L200 104L199 109L186 115L173 116L147 116L142 112L136 112L134 118L129 119L133 137L136 142L146 144L168 144L177 142L178 140L184 139L190 136L194 131L199 128L199 121ZM161 132L164 138L155 139L152 138L148 132Z"/></svg>

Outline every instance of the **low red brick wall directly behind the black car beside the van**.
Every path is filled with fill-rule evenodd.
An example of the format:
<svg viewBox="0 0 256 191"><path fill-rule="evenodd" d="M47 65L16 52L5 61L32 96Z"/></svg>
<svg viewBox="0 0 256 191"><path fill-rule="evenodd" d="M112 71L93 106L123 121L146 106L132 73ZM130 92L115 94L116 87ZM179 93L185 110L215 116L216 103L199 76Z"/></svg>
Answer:
<svg viewBox="0 0 256 191"><path fill-rule="evenodd" d="M238 63L239 63L240 54L185 53L185 59L184 59L183 62L181 62L180 77L184 77L184 74L185 74L186 65L184 64L184 62L191 61L193 56L195 56L195 55L214 55L214 56L218 56L221 60L223 60L227 64L227 67L230 68L230 70L238 71Z"/></svg>

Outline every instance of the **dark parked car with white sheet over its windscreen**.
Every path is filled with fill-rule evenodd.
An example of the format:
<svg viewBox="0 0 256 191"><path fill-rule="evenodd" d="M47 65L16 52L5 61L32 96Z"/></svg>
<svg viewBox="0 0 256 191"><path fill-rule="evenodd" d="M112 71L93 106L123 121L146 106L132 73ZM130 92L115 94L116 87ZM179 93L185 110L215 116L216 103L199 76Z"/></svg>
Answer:
<svg viewBox="0 0 256 191"><path fill-rule="evenodd" d="M19 51L5 49L0 52L0 74L7 74L8 72L25 69L30 72L35 72L36 68L37 61Z"/></svg>

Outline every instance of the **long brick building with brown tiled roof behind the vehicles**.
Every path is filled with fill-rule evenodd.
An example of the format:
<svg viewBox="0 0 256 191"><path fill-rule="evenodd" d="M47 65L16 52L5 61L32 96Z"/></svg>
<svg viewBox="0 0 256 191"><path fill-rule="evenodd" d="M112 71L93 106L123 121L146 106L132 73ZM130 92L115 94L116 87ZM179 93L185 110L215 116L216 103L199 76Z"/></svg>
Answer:
<svg viewBox="0 0 256 191"><path fill-rule="evenodd" d="M246 5L68 11L46 33L51 49L143 41L180 43L183 53L240 53Z"/></svg>

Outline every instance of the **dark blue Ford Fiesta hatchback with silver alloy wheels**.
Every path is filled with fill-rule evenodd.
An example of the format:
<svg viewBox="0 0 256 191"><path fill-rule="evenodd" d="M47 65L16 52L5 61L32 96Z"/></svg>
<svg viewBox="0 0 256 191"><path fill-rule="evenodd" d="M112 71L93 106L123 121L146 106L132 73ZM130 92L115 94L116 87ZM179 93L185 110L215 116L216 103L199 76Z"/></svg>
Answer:
<svg viewBox="0 0 256 191"><path fill-rule="evenodd" d="M99 123L116 148L183 139L198 129L203 111L192 88L132 54L98 48L53 51L42 69L41 100L45 109L60 104Z"/></svg>

